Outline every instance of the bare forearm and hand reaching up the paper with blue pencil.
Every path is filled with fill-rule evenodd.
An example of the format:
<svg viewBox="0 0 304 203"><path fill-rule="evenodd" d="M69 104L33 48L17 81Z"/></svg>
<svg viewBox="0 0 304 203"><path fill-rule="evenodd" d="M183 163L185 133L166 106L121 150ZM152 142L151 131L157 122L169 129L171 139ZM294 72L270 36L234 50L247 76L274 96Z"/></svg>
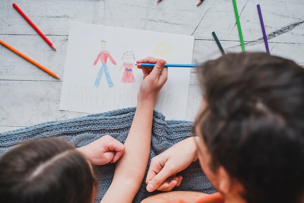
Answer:
<svg viewBox="0 0 304 203"><path fill-rule="evenodd" d="M153 106L157 93L167 81L164 60L144 59L141 63L156 63L154 68L141 68L144 79L137 93L137 108L125 141L125 152L118 160L113 181L101 203L132 203L145 176L148 165Z"/></svg>

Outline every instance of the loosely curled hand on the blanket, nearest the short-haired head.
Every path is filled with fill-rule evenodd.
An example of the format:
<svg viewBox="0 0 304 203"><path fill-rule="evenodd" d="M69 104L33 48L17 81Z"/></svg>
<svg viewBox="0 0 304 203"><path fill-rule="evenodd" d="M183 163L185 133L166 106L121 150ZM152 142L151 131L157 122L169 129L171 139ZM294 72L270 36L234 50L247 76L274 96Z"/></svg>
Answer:
<svg viewBox="0 0 304 203"><path fill-rule="evenodd" d="M155 189L170 191L181 184L183 177L176 176L176 173L186 169L198 159L195 143L197 138L186 138L152 158L146 178L148 192Z"/></svg>

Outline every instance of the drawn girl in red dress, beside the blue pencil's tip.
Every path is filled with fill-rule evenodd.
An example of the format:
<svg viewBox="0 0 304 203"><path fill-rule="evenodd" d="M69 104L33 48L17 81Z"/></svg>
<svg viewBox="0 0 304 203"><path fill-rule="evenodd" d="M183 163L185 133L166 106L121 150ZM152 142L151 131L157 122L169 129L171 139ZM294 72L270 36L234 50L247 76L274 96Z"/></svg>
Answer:
<svg viewBox="0 0 304 203"><path fill-rule="evenodd" d="M119 68L119 71L124 68L121 83L134 83L135 78L133 74L133 68L135 67L135 57L132 51L126 51L123 53L124 62Z"/></svg>

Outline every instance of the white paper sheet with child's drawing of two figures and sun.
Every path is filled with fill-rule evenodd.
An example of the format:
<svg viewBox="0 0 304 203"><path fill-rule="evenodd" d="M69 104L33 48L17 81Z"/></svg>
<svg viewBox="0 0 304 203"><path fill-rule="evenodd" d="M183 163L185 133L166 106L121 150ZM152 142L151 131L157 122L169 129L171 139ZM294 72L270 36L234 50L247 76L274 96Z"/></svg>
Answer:
<svg viewBox="0 0 304 203"><path fill-rule="evenodd" d="M147 56L165 59L170 64L191 64L193 42L193 36L72 23L60 110L100 113L136 106L143 74L132 64ZM116 65L102 50L111 55ZM97 79L103 65L101 58L107 58L105 65L113 87L107 80L105 67ZM190 68L169 68L168 81L159 92L154 109L166 119L185 119L189 80Z"/></svg>

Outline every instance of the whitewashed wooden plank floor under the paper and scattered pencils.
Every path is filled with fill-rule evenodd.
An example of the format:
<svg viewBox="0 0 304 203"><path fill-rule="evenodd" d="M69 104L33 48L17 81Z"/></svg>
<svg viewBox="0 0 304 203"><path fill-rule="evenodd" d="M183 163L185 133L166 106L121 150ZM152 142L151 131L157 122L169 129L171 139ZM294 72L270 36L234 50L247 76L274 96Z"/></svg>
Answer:
<svg viewBox="0 0 304 203"><path fill-rule="evenodd" d="M195 37L193 63L221 55L215 31L226 52L240 52L232 0L15 0L57 51L34 31L13 8L0 0L0 40L56 72L51 77L0 46L0 132L84 116L60 111L60 95L69 24L82 22ZM256 5L260 4L270 53L304 66L304 0L236 0L246 51L266 51ZM193 120L201 100L191 73L186 119Z"/></svg>

